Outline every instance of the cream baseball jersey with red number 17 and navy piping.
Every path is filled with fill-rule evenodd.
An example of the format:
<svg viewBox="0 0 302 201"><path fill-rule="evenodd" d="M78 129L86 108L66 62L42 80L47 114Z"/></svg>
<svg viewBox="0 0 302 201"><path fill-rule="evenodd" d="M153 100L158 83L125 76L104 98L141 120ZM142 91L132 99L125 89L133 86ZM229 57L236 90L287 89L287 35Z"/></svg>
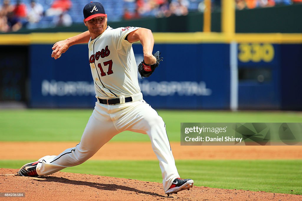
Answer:
<svg viewBox="0 0 302 201"><path fill-rule="evenodd" d="M89 63L98 97L120 97L140 93L132 43L125 37L140 27L107 29L88 43Z"/></svg>

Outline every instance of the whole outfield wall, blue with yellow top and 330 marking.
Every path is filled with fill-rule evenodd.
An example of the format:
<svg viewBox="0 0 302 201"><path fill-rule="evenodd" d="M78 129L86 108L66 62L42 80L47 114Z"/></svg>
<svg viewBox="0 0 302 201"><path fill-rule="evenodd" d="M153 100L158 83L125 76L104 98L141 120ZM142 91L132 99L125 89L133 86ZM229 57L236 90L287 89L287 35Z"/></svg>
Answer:
<svg viewBox="0 0 302 201"><path fill-rule="evenodd" d="M154 35L154 50L162 52L164 61L149 78L139 76L144 99L152 107L234 109L233 104L235 109L302 110L302 34L236 34L233 38L215 33ZM28 61L20 60L24 68L28 62L28 106L93 107L96 99L87 45L72 46L54 60L50 57L52 44L67 36L48 36L25 35L27 44L22 37L29 55ZM9 43L0 39L2 44L5 41ZM231 41L236 41L235 72ZM135 43L133 50L140 63L142 46ZM18 52L9 51L10 59L6 60L11 61L10 69L17 69Z"/></svg>

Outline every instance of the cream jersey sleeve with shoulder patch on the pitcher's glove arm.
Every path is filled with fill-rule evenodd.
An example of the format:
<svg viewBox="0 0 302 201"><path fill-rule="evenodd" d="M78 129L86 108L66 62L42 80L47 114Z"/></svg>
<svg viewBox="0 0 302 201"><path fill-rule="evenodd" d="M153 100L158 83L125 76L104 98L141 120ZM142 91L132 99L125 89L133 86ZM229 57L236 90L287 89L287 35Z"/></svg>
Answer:
<svg viewBox="0 0 302 201"><path fill-rule="evenodd" d="M113 44L117 51L121 49L127 49L132 43L129 43L128 40L125 40L125 37L134 30L139 29L140 27L120 27L114 30L112 37Z"/></svg>

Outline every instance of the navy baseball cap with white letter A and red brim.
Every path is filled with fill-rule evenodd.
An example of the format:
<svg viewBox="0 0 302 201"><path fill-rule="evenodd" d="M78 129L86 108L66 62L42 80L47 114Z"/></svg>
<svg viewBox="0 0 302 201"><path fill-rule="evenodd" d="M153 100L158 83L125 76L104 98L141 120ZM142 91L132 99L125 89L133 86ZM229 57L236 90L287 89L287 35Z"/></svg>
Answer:
<svg viewBox="0 0 302 201"><path fill-rule="evenodd" d="M92 18L104 16L107 17L107 14L105 13L105 9L103 5L99 2L90 2L85 5L83 9L83 14L84 14L84 20L88 21L91 20Z"/></svg>

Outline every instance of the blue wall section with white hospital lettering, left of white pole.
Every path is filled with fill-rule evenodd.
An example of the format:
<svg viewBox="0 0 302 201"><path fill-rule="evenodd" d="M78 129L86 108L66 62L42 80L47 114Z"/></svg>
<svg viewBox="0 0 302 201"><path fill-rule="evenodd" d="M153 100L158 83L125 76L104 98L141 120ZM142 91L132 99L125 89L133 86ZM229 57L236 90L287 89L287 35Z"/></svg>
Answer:
<svg viewBox="0 0 302 201"><path fill-rule="evenodd" d="M57 60L40 54L49 52L51 47L30 46L31 107L93 106L96 99L87 46L71 47ZM133 49L140 63L142 46L135 44ZM156 44L154 50L157 49L164 57L159 68L149 78L139 76L149 104L156 108L229 108L227 44ZM214 55L219 55L219 59L214 59Z"/></svg>

